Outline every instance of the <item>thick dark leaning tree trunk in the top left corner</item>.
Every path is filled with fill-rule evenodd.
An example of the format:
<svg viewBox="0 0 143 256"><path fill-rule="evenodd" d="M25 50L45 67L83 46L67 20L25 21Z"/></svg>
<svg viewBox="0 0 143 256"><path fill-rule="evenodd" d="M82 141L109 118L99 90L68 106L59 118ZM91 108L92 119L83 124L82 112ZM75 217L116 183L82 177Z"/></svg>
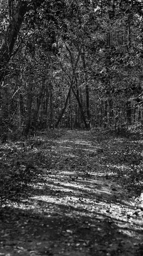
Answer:
<svg viewBox="0 0 143 256"><path fill-rule="evenodd" d="M1 4L3 4L3 1L4 0L1 1ZM39 6L42 2L43 0L33 0L31 2L18 0L17 3L15 3L14 0L8 0L8 5L4 5L5 8L8 8L9 24L7 25L5 37L2 39L0 50L0 82L6 72L7 63L11 57L17 53L20 47L19 43L14 49L26 12L33 9L33 7L36 9L37 5Z"/></svg>

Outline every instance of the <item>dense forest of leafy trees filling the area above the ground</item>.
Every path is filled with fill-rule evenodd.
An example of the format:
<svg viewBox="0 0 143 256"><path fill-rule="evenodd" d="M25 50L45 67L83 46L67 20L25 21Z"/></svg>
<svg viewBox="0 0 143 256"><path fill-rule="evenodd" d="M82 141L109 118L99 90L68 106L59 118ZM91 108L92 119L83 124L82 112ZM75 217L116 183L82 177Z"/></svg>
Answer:
<svg viewBox="0 0 143 256"><path fill-rule="evenodd" d="M140 124L140 1L1 2L2 141Z"/></svg>

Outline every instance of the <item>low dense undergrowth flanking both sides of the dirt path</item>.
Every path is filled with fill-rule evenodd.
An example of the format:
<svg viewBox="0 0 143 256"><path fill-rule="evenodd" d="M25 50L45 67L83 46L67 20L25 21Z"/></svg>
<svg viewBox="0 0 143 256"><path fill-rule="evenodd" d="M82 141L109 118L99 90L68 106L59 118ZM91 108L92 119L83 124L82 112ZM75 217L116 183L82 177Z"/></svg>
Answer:
<svg viewBox="0 0 143 256"><path fill-rule="evenodd" d="M76 131L75 131L76 132ZM19 200L30 195L31 184L41 177L41 166L48 166L52 159L51 147L56 148L55 139L65 134L63 130L39 132L35 137L21 141L6 142L0 149L0 195L2 202ZM99 163L105 178L122 183L131 196L142 191L141 128L132 127L125 133L109 129L90 131L88 137L97 144ZM45 156L45 150L48 157ZM100 168L100 166L99 166Z"/></svg>

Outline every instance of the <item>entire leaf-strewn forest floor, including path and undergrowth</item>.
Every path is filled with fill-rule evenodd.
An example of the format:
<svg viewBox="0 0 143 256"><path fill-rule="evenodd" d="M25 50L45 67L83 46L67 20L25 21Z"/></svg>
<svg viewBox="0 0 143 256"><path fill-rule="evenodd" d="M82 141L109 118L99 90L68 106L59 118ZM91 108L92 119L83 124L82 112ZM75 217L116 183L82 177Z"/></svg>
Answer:
<svg viewBox="0 0 143 256"><path fill-rule="evenodd" d="M0 256L142 256L141 136L1 145Z"/></svg>

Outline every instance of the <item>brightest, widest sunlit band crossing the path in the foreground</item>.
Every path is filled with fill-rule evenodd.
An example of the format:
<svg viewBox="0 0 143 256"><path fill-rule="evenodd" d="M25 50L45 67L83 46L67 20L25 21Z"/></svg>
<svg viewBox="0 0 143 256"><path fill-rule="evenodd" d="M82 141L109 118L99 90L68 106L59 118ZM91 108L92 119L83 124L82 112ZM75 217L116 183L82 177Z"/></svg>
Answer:
<svg viewBox="0 0 143 256"><path fill-rule="evenodd" d="M59 193L57 193L57 196L58 195ZM66 215L66 211L64 209L67 207L72 207L72 216L82 215L89 217L93 215L94 217L96 217L99 214L100 216L104 216L103 218L111 217L114 218L117 226L121 221L122 226L120 224L119 228L122 228L123 226L125 227L127 223L131 225L141 225L141 220L136 220L135 218L128 219L126 217L126 212L124 211L124 208L122 208L122 205L117 205L116 203L111 204L110 202L103 202L102 200L100 202L96 202L95 200L91 200L90 198L65 195L61 198L56 196L33 196L31 197L31 199L35 201L35 203L33 204L33 208L35 206L35 210L38 207L39 202L47 203L46 208L52 203L53 207L49 209L51 214L57 213L58 215L61 215L62 211L64 211L64 214ZM59 207L62 207L60 208L60 212ZM69 215L69 213L67 214Z"/></svg>

